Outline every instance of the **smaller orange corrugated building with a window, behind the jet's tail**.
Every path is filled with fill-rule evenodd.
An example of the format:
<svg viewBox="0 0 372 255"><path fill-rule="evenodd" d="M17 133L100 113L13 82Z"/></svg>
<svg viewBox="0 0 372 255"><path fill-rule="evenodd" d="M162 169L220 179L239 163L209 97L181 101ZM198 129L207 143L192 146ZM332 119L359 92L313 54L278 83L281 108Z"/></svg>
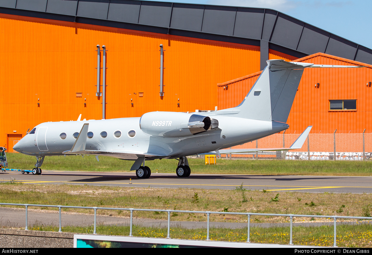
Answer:
<svg viewBox="0 0 372 255"><path fill-rule="evenodd" d="M369 84L372 65L322 53L295 61L365 67L306 68L288 116L286 133L301 133L310 125L313 126L311 133L333 133L336 129L337 133L362 133L364 129L372 132L372 87ZM260 73L218 84L218 109L237 106ZM330 100L356 100L356 109L331 110Z"/></svg>

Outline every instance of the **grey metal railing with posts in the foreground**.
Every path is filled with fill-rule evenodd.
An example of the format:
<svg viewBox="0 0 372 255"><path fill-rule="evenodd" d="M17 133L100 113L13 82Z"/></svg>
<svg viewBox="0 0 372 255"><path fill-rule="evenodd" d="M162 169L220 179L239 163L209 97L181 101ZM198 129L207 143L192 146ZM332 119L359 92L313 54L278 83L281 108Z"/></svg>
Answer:
<svg viewBox="0 0 372 255"><path fill-rule="evenodd" d="M132 226L133 226L133 212L134 211L145 211L145 212L166 212L168 213L168 226L167 226L167 238L170 238L170 214L171 213L202 213L207 215L207 237L206 240L209 241L209 216L210 214L234 214L234 215L247 215L247 243L250 243L250 217L251 215L256 216L282 216L282 217L289 217L289 227L290 227L290 239L289 244L293 245L292 242L292 228L293 228L293 218L294 217L312 217L312 218L333 218L333 247L337 247L336 245L336 220L337 219L360 219L360 220L372 220L372 217L354 217L354 216L329 216L329 215L303 215L303 214L275 214L275 213L233 213L233 212L207 212L207 211L182 211L182 210L156 210L156 209L135 209L135 208L111 208L111 207L86 207L86 206L57 206L57 205L49 205L49 204L12 204L12 203L0 203L0 205L7 205L7 206L25 206L26 207L26 227L25 230L28 230L28 222L27 222L27 209L29 206L38 206L38 207L56 207L59 211L59 223L60 229L58 232L62 232L62 224L61 224L61 209L62 208L78 208L78 209L93 209L94 210L94 231L93 234L96 233L96 219L97 219L97 210L122 210L122 211L130 211L130 230L129 236L132 235Z"/></svg>

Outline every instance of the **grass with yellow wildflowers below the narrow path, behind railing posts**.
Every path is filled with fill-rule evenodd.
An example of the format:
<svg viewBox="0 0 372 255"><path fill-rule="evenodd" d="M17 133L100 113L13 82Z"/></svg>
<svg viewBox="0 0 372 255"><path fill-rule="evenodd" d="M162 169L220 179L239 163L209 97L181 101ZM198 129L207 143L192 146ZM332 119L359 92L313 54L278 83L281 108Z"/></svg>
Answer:
<svg viewBox="0 0 372 255"><path fill-rule="evenodd" d="M58 231L56 226L33 226L29 230ZM93 233L93 226L89 227L62 227L62 232ZM129 235L129 226L97 226L96 233L99 235ZM289 244L289 227L251 227L250 241L252 243L276 243ZM167 229L157 227L133 226L132 235L138 237L166 238ZM206 240L207 230L185 229L174 227L170 229L170 238ZM211 228L209 239L212 241L246 242L247 229ZM341 225L337 226L338 247L372 247L371 225ZM292 242L295 245L333 246L333 226L321 227L293 227Z"/></svg>

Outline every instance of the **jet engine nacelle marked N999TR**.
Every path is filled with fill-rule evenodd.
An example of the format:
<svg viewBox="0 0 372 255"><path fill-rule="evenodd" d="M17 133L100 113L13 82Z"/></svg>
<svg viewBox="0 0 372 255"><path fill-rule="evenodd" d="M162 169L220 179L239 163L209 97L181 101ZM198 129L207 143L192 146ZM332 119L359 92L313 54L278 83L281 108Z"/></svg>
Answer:
<svg viewBox="0 0 372 255"><path fill-rule="evenodd" d="M180 112L150 112L142 115L140 128L147 135L183 137L218 127L218 120L208 116Z"/></svg>

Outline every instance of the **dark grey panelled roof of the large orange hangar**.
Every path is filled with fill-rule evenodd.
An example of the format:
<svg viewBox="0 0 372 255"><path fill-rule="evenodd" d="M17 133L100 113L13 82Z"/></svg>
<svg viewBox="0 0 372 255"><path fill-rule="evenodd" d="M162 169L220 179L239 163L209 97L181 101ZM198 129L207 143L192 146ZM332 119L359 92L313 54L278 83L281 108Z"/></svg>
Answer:
<svg viewBox="0 0 372 255"><path fill-rule="evenodd" d="M372 50L272 9L132 0L0 0L0 13L234 42L372 64Z"/></svg>

